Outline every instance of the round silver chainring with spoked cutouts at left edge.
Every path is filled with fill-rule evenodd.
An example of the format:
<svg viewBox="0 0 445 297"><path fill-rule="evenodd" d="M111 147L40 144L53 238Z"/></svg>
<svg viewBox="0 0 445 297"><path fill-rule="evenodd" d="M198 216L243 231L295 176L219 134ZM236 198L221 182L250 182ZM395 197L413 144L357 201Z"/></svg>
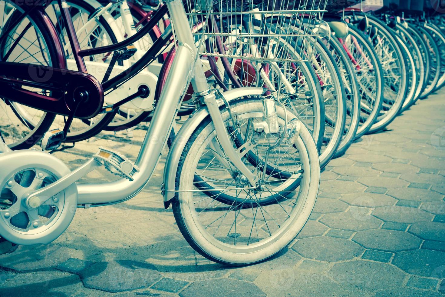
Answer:
<svg viewBox="0 0 445 297"><path fill-rule="evenodd" d="M20 245L49 244L65 232L77 209L75 183L46 201L32 197L26 203L30 193L69 174L65 163L21 150L0 154L0 167L0 236Z"/></svg>

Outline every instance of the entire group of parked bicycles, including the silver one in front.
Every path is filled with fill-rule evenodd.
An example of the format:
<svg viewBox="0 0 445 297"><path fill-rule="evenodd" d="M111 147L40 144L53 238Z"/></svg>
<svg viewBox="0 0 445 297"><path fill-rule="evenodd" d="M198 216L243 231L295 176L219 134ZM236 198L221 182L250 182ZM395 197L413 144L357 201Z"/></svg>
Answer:
<svg viewBox="0 0 445 297"><path fill-rule="evenodd" d="M167 142L162 195L189 244L264 260L303 228L320 168L445 84L445 26L423 4L0 2L0 252L134 197ZM70 171L24 150L136 125L135 162L100 148ZM120 179L77 183L101 166Z"/></svg>

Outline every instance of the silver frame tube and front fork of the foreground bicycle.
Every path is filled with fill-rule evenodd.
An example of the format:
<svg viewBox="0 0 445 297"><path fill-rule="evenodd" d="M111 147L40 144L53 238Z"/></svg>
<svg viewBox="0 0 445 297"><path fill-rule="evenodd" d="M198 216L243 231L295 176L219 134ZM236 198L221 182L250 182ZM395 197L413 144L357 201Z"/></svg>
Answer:
<svg viewBox="0 0 445 297"><path fill-rule="evenodd" d="M63 4L65 0L59 1L61 4ZM223 119L221 118L216 96L209 90L201 61L197 57L198 50L194 43L194 38L189 27L189 22L182 1L169 0L164 2L166 3L166 7L170 12L170 20L175 28L178 46L174 61L166 79L166 85L168 85L168 88L164 88L162 90L159 102L154 111L154 116L150 122L141 150L139 151L135 162L136 166L140 168L140 171L134 174L133 181L122 178L109 183L78 184L78 204L90 205L117 203L137 195L145 187L150 180L150 177L153 174L159 160L161 159L163 149L166 145L166 140L173 126L182 97L190 82L193 85L195 94L200 95L205 103L206 109L214 122L215 130L218 134L221 146L223 147L223 150L228 158L235 165L235 167L237 167L239 171L246 176L252 186L259 185L258 178L256 178L244 165L231 144L227 130L225 129L225 125L223 123ZM61 8L63 8L63 5L61 5ZM145 30L142 29L141 31ZM137 36L138 33L129 39ZM73 41L75 41L75 37L76 36L74 34ZM112 46L108 46L108 48L109 47ZM86 56L88 55L87 53L94 51L97 51L97 49L78 51L75 57L77 56L77 59L81 60L81 56ZM144 57L146 55L147 53L144 55ZM137 64L138 62L135 63L135 68L138 68ZM110 81L112 80L113 79ZM106 90L110 85L113 84L109 83L108 81L105 82L104 90ZM250 89L250 93L248 94L262 94L263 92L262 88L255 88L257 89L255 91L253 91L252 88L247 89ZM241 96L248 95L245 93L246 92L242 91L239 92ZM172 106L177 106L178 108L174 109Z"/></svg>

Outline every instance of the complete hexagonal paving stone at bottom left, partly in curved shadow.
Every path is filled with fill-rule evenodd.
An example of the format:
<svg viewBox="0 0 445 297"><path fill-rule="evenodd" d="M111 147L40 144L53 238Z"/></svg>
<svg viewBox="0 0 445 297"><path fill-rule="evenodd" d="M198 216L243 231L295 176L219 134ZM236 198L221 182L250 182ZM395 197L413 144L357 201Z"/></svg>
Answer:
<svg viewBox="0 0 445 297"><path fill-rule="evenodd" d="M80 276L85 287L111 293L148 288L162 277L153 265L131 260L96 263Z"/></svg>

